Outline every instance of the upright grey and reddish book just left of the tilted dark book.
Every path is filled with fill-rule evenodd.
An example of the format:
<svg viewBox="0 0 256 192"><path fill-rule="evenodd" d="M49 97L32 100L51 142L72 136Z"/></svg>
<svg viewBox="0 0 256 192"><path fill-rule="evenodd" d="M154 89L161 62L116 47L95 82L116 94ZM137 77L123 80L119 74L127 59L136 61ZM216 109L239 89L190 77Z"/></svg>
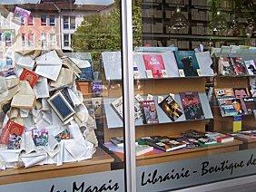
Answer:
<svg viewBox="0 0 256 192"><path fill-rule="evenodd" d="M141 109L144 124L159 123L155 101L141 101Z"/></svg>

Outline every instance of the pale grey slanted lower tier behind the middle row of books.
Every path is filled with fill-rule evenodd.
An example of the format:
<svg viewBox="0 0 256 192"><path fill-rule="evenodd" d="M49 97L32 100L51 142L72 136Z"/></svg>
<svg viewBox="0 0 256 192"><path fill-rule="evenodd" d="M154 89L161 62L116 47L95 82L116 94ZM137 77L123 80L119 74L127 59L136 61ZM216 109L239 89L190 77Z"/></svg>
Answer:
<svg viewBox="0 0 256 192"><path fill-rule="evenodd" d="M202 111L203 114L205 116L205 119L202 120L209 120L212 119L212 110L210 107L210 104L208 102L208 98L205 92L203 93L198 93L199 94L199 98L202 104ZM158 95L154 95L153 99L155 101L156 104L156 110L157 110L157 114L158 114L158 120L159 123L158 124L162 124L162 123L176 123L176 122L184 122L184 121L194 121L194 120L186 120L185 119L185 115L184 113L182 114L182 116L180 118L178 118L176 121L172 121L167 115L166 113L162 110L162 108L160 108L160 106L157 104L157 96ZM167 95L161 95L164 98ZM142 96L144 100L146 100L147 96ZM107 128L108 129L113 129L113 128L122 128L123 127L123 120L121 119L121 117L117 114L117 112L113 109L112 106L112 102L117 100L117 98L103 98L103 106L104 106L104 110L105 110L105 117L106 117L106 122L107 122ZM174 95L174 100L180 105L180 107L182 108L182 101L181 101L181 97L179 94L175 94ZM183 108L182 108L183 110ZM143 124L143 118L139 118L137 120L135 120L135 126L155 126L157 124Z"/></svg>

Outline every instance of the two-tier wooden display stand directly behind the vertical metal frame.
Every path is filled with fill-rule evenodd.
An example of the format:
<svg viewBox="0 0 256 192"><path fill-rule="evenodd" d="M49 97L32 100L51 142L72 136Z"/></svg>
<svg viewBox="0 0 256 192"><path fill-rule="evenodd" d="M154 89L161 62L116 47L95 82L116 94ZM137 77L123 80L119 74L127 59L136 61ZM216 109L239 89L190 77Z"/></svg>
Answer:
<svg viewBox="0 0 256 192"><path fill-rule="evenodd" d="M204 132L206 131L206 123L213 119L211 106L205 92L206 78L214 76L214 72L211 68L212 59L210 53L193 52L193 56L197 58L200 70L197 70L197 76L189 76L188 73L184 74L186 72L182 72L181 68L179 68L179 51L177 50L178 49L174 47L135 48L133 53L135 105L138 104L138 101L142 100L139 102L139 105L141 109L143 109L142 105L145 101L151 100L157 111L157 120L153 123L145 122L143 117L135 117L136 139L153 136L176 138L188 130ZM187 57L188 55L184 56L184 54L190 53L192 52L182 53L182 57ZM119 103L118 105L121 103L121 108L123 104L121 73L118 74L118 72L121 72L120 55L121 54L118 52L102 53L105 76L103 84L106 86L112 84L115 88L103 93L103 95L105 95L105 97L103 97L103 112L105 114L105 121L103 123L104 143L109 143L113 138L123 136L123 119L120 115L122 110L120 110L119 107L113 107L114 103ZM158 58L159 55L162 56L164 70L162 70L162 76L153 77L151 73L147 72L148 66L145 64L147 61L146 58L152 56L152 61L154 61L154 58ZM159 71L161 71L161 69L159 69ZM153 72L153 75L154 74L156 73ZM202 105L203 117L190 119L186 112L183 112L177 119L172 120L172 118L162 110L159 103L164 98L167 98L168 95L171 95L182 110L185 110L186 108L184 108L185 106L182 102L186 100L184 98L189 96L182 96L182 92L186 92L185 95L189 95L190 92L193 92L192 97L194 97L194 92L198 93L198 98ZM151 152L137 156L137 165L151 165L184 158L197 158L209 154L236 151L239 150L241 143L240 140L234 139L231 142L204 146L203 148L177 149L169 152L153 149ZM108 151L107 148L104 149ZM108 152L115 159L115 163L123 163L123 153Z"/></svg>

